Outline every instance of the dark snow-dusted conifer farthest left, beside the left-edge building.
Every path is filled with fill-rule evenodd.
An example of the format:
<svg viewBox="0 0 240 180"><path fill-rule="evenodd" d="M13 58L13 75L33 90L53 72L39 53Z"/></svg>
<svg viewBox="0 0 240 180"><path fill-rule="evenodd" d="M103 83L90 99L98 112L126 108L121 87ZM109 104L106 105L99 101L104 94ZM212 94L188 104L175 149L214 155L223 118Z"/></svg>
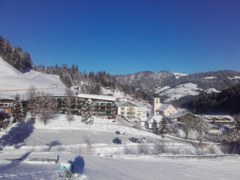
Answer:
<svg viewBox="0 0 240 180"><path fill-rule="evenodd" d="M14 122L20 122L23 119L23 106L22 106L22 102L20 100L20 96L18 94L16 94L16 96L14 97L14 102L11 106L11 113L12 113L12 117L13 117L13 121Z"/></svg>

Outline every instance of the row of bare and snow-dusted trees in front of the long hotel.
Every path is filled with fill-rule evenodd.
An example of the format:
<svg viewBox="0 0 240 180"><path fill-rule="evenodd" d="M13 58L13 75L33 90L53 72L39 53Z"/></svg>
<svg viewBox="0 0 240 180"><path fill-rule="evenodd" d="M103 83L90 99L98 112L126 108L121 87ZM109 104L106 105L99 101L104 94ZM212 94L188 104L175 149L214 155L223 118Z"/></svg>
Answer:
<svg viewBox="0 0 240 180"><path fill-rule="evenodd" d="M20 96L15 96L13 105L11 107L13 122L22 121L25 111L30 114L31 119L35 119L36 115L38 115L43 121L44 125L46 125L49 118L58 111L58 101L50 93L42 92L40 95L37 95L34 86L28 90L27 98L28 101L24 109ZM73 108L76 105L76 98L69 88L65 89L63 104L67 120L71 124L71 121L73 120ZM87 124L93 124L92 106L93 102L89 100L83 108L82 121L86 122Z"/></svg>

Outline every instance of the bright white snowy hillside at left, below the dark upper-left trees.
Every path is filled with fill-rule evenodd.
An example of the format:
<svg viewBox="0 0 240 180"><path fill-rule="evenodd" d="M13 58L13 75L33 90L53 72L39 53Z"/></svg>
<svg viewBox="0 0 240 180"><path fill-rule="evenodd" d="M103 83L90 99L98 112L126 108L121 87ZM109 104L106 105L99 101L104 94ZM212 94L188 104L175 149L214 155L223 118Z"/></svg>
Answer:
<svg viewBox="0 0 240 180"><path fill-rule="evenodd" d="M0 98L11 98L16 93L26 98L26 91L35 86L37 91L45 91L54 95L63 95L65 85L58 76L43 74L34 70L19 72L0 57Z"/></svg>

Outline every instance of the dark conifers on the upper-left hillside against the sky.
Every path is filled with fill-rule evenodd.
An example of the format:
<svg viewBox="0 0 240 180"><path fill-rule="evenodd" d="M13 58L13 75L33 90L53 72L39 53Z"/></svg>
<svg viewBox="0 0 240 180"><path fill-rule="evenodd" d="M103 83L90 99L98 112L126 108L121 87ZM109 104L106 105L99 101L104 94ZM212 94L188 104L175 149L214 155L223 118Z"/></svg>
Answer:
<svg viewBox="0 0 240 180"><path fill-rule="evenodd" d="M20 47L13 47L10 42L0 36L0 56L11 66L22 72L24 69L31 69L33 63L28 52Z"/></svg>

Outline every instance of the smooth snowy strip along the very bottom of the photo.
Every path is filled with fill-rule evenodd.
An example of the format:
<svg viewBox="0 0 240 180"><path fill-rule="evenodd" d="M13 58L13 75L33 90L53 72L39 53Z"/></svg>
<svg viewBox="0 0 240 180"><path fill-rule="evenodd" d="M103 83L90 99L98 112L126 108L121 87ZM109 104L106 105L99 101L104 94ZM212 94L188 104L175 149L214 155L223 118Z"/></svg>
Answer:
<svg viewBox="0 0 240 180"><path fill-rule="evenodd" d="M56 157L59 164L12 162L4 159L22 157L25 154L0 154L2 179L56 179L59 164L72 161L82 172L76 179L91 180L238 180L239 157L213 160L156 159L152 156L122 156L114 158L78 156L71 153L31 153L28 157ZM0 178L1 179L1 178Z"/></svg>

